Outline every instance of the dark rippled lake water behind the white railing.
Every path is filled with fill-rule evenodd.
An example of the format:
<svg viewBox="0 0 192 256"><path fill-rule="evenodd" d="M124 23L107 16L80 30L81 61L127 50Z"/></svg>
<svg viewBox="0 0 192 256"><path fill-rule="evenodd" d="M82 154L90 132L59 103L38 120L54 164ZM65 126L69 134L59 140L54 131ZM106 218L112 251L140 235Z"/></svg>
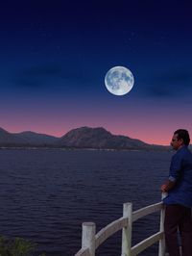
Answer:
<svg viewBox="0 0 192 256"><path fill-rule="evenodd" d="M36 253L71 256L81 248L82 222L97 232L133 210L160 201L171 152L60 149L0 150L0 235L37 243ZM157 232L157 214L133 224L132 243ZM140 255L157 255L157 245ZM35 253L35 254L36 254ZM121 255L121 232L98 248Z"/></svg>

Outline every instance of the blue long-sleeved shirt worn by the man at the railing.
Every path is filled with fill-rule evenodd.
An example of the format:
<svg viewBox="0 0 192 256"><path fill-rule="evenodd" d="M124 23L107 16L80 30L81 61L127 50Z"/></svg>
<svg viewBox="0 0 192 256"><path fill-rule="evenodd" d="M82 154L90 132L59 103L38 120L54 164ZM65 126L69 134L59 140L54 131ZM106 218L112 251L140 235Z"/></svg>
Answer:
<svg viewBox="0 0 192 256"><path fill-rule="evenodd" d="M192 153L187 146L182 146L172 157L169 180L176 182L176 185L163 203L192 207Z"/></svg>

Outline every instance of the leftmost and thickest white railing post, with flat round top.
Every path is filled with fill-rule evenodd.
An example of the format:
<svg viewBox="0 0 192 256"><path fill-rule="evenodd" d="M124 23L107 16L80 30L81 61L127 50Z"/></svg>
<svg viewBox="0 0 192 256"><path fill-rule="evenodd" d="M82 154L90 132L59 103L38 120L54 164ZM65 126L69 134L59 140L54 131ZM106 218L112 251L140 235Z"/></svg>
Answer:
<svg viewBox="0 0 192 256"><path fill-rule="evenodd" d="M95 256L95 223L84 222L82 227L82 248L89 248L90 256Z"/></svg>

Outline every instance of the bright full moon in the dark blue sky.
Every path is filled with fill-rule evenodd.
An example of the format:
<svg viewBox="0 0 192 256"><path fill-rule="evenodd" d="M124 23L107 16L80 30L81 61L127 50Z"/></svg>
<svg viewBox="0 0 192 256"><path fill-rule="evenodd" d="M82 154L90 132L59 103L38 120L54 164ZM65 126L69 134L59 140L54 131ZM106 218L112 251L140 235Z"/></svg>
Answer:
<svg viewBox="0 0 192 256"><path fill-rule="evenodd" d="M134 78L127 67L114 66L108 70L105 84L110 93L121 96L132 90Z"/></svg>

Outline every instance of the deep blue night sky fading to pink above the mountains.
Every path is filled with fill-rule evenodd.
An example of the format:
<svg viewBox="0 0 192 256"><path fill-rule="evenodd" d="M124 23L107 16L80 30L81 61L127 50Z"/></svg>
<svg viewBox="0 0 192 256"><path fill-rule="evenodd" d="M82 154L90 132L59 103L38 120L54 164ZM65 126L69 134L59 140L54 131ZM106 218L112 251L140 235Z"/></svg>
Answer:
<svg viewBox="0 0 192 256"><path fill-rule="evenodd" d="M0 127L61 137L81 126L169 144L192 137L190 1L3 1ZM105 87L132 70L124 96Z"/></svg>

